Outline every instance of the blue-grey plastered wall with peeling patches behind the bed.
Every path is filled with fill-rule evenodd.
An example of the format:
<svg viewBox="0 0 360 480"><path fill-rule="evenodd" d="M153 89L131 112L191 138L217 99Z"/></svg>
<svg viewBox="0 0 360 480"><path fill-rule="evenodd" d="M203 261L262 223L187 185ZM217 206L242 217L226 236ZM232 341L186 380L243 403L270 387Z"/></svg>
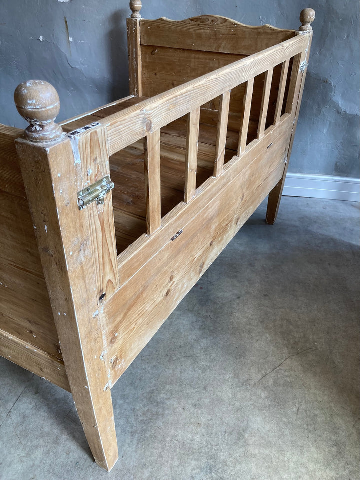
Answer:
<svg viewBox="0 0 360 480"><path fill-rule="evenodd" d="M290 171L359 175L358 0L142 0L142 16L219 14L243 23L298 28L316 10L314 39ZM127 0L0 0L0 122L24 126L13 103L18 83L52 83L58 120L128 92Z"/></svg>

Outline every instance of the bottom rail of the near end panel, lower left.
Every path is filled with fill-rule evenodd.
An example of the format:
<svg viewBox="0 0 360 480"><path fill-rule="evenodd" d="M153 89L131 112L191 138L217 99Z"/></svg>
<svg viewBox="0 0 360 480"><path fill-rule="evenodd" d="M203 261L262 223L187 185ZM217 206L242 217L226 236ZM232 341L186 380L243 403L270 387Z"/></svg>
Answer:
<svg viewBox="0 0 360 480"><path fill-rule="evenodd" d="M1 329L0 355L64 390L71 391L62 360Z"/></svg>

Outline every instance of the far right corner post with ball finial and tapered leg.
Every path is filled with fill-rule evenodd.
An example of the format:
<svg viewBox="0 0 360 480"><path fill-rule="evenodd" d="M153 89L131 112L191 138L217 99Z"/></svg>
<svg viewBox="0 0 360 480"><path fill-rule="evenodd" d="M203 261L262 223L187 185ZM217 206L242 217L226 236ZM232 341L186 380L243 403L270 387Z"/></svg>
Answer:
<svg viewBox="0 0 360 480"><path fill-rule="evenodd" d="M298 61L294 61L294 64L297 63L297 71L294 71L294 68L292 69L293 74L295 73L295 81L292 82L293 84L293 98L291 105L289 105L289 102L286 104L286 111L291 111L292 114L294 115L294 125L292 129L292 134L289 142L289 148L287 151L287 158L286 158L286 164L284 168L284 172L282 175L281 180L277 183L277 185L270 191L269 197L268 197L268 202L267 202L267 211L266 211L266 223L269 225L273 225L276 221L277 217L277 212L280 206L280 200L281 200L281 195L282 195L282 190L284 187L285 183L285 178L286 178L286 173L287 173L287 168L288 168L288 163L289 163L289 158L291 155L291 150L292 150L292 145L293 145L293 140L294 140L294 135L296 131L296 125L297 125L297 120L298 120L298 114L299 114L299 109L301 105L301 99L302 99L302 92L303 92L303 87L305 83L305 76L306 76L306 70L307 70L307 62L310 54L310 47L311 47L311 40L312 40L312 26L311 23L315 19L315 11L312 8L305 8L304 10L301 11L300 13L300 21L301 21L301 26L299 27L299 34L307 34L308 35L308 44L307 48L301 53L300 57L298 58ZM303 69L299 70L299 66L301 65L302 62L305 62L305 67ZM291 84L290 84L291 87ZM289 98L290 98L291 92L289 91Z"/></svg>

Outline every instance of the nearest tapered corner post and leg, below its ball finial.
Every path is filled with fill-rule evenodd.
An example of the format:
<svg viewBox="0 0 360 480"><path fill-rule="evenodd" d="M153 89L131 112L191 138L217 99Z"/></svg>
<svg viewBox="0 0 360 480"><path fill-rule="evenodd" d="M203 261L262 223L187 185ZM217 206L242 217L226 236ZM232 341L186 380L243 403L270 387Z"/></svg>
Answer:
<svg viewBox="0 0 360 480"><path fill-rule="evenodd" d="M94 458L109 470L118 453L93 263L102 255L102 230L93 243L88 213L97 205L78 209L85 178L69 139L17 140L16 147L71 392Z"/></svg>

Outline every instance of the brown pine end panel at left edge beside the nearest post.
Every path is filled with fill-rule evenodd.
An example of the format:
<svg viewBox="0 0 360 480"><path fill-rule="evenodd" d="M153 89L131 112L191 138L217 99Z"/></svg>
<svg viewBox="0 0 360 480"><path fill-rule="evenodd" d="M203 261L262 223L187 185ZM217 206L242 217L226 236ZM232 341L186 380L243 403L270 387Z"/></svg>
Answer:
<svg viewBox="0 0 360 480"><path fill-rule="evenodd" d="M62 359L59 340L14 143L22 133L0 125L0 329L56 362ZM15 361L4 345L0 354ZM34 354L23 350L21 364L37 372Z"/></svg>

